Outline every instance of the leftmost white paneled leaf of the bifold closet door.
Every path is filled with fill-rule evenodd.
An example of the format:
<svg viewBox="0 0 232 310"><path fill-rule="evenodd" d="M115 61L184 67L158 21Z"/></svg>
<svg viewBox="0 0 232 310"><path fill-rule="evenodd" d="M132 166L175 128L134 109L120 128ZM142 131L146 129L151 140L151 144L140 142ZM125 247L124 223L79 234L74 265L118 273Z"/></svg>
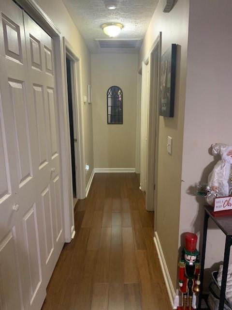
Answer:
<svg viewBox="0 0 232 310"><path fill-rule="evenodd" d="M46 285L38 146L23 13L13 1L0 1L0 42L0 309L39 310Z"/></svg>

